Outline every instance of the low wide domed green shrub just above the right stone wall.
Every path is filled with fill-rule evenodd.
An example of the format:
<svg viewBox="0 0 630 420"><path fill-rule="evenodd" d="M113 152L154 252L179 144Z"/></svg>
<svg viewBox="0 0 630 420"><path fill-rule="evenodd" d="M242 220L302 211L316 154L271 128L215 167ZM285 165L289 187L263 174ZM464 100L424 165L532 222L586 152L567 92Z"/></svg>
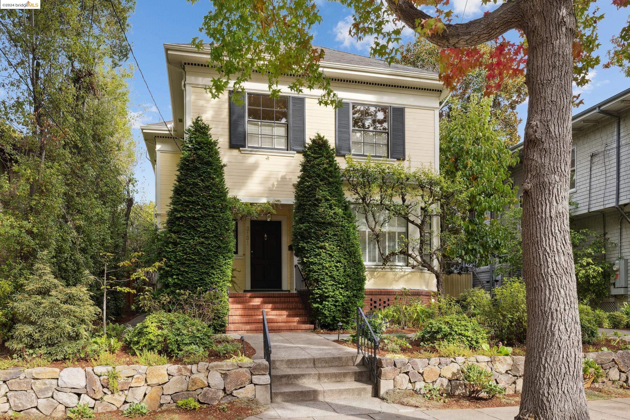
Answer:
<svg viewBox="0 0 630 420"><path fill-rule="evenodd" d="M477 321L466 315L445 315L430 320L416 339L424 343L444 341L462 344L468 348L479 348L488 342L488 333Z"/></svg>

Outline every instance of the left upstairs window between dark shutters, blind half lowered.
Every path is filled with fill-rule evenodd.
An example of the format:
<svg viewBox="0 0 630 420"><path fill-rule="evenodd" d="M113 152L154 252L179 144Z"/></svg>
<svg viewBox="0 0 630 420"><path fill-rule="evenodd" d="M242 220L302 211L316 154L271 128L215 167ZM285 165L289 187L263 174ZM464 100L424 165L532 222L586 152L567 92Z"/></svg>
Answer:
<svg viewBox="0 0 630 420"><path fill-rule="evenodd" d="M247 94L247 147L287 150L289 99Z"/></svg>

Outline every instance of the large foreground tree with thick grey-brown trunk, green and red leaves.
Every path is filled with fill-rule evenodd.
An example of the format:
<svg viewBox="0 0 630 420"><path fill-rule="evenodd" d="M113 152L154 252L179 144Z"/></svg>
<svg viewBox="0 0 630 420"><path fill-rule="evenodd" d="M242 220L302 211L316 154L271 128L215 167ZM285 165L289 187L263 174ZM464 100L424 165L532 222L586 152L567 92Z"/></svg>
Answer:
<svg viewBox="0 0 630 420"><path fill-rule="evenodd" d="M193 3L196 0L190 0ZM527 279L527 359L518 419L588 419L582 384L580 319L569 236L572 84L583 86L600 57L595 0L482 0L501 3L481 18L452 23L449 0L338 0L353 10L350 35L373 41L370 55L391 63L403 26L442 48L440 75L454 88L469 72L486 69L484 94L525 73L529 94L524 139L523 275ZM193 45L219 72L208 89L243 91L252 74L265 74L273 95L285 74L288 88L318 89L319 103L338 106L320 67L324 52L312 47L321 23L318 0L212 2ZM612 0L626 8L630 0ZM427 13L430 11L432 14ZM630 22L620 28L608 65L627 66ZM517 42L508 32L517 30ZM507 35L508 37L510 35ZM484 62L479 45L490 42ZM211 47L210 47L211 45ZM290 48L287 48L290 46ZM273 57L269 60L268 57ZM541 384L544 384L542 386Z"/></svg>

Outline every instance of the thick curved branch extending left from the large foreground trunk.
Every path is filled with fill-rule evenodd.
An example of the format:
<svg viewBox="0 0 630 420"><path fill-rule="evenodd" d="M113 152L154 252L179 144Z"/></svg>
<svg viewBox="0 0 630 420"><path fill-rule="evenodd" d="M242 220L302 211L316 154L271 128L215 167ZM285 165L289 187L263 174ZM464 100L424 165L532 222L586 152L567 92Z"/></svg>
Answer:
<svg viewBox="0 0 630 420"><path fill-rule="evenodd" d="M432 18L416 8L410 0L386 0L389 9L412 29ZM522 25L520 4L524 0L507 0L495 11L466 23L445 24L442 33L428 35L427 40L442 48L474 47L491 41Z"/></svg>

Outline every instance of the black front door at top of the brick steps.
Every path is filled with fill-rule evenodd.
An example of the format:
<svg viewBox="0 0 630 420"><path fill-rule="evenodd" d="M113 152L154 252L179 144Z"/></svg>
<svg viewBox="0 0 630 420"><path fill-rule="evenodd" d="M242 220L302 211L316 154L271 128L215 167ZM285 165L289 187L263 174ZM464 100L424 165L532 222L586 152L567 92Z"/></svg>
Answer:
<svg viewBox="0 0 630 420"><path fill-rule="evenodd" d="M282 290L282 223L251 221L251 288Z"/></svg>

